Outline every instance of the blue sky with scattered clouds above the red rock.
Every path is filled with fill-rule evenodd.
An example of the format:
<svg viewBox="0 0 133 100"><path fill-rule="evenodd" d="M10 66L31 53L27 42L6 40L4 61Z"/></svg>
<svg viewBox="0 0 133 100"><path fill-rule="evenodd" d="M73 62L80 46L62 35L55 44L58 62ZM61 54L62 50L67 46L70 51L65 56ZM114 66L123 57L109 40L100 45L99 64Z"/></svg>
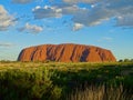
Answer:
<svg viewBox="0 0 133 100"><path fill-rule="evenodd" d="M133 59L133 1L0 0L0 60L47 43L96 46Z"/></svg>

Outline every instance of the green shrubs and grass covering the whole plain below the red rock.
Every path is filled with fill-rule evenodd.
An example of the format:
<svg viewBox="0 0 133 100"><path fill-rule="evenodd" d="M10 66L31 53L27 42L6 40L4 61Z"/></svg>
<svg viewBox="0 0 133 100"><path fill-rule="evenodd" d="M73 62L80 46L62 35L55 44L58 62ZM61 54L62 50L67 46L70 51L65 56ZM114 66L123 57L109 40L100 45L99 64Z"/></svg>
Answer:
<svg viewBox="0 0 133 100"><path fill-rule="evenodd" d="M133 100L133 62L0 62L0 100Z"/></svg>

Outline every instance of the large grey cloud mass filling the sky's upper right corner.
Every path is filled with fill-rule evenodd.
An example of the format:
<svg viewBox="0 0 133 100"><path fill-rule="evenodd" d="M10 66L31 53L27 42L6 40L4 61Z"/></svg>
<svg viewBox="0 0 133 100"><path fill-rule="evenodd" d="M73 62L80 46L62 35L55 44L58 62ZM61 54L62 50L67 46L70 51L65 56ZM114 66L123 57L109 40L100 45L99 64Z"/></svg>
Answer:
<svg viewBox="0 0 133 100"><path fill-rule="evenodd" d="M89 11L73 14L73 21L84 26L96 26L104 21L116 19L119 27L133 27L133 1L105 0L94 4Z"/></svg>

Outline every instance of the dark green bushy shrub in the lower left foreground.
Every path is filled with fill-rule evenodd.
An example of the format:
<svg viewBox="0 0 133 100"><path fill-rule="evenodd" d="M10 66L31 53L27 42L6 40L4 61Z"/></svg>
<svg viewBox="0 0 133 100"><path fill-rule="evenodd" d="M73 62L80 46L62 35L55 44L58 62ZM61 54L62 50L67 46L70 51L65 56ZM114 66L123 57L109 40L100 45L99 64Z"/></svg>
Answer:
<svg viewBox="0 0 133 100"><path fill-rule="evenodd" d="M58 100L61 89L52 86L50 78L51 72L47 69L0 72L0 100Z"/></svg>

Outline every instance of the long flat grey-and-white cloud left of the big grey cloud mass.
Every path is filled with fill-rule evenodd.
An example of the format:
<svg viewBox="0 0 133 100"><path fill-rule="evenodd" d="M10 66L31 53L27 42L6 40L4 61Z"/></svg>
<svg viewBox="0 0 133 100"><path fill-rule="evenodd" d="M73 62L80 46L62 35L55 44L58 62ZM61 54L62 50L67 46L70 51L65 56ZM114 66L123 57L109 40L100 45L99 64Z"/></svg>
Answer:
<svg viewBox="0 0 133 100"><path fill-rule="evenodd" d="M44 18L61 18L62 16L74 16L79 12L84 12L86 9L79 8L78 6L70 6L64 4L63 6L44 6L41 8L40 6L37 6L34 9L32 9L32 12L34 14L34 19L44 19Z"/></svg>

